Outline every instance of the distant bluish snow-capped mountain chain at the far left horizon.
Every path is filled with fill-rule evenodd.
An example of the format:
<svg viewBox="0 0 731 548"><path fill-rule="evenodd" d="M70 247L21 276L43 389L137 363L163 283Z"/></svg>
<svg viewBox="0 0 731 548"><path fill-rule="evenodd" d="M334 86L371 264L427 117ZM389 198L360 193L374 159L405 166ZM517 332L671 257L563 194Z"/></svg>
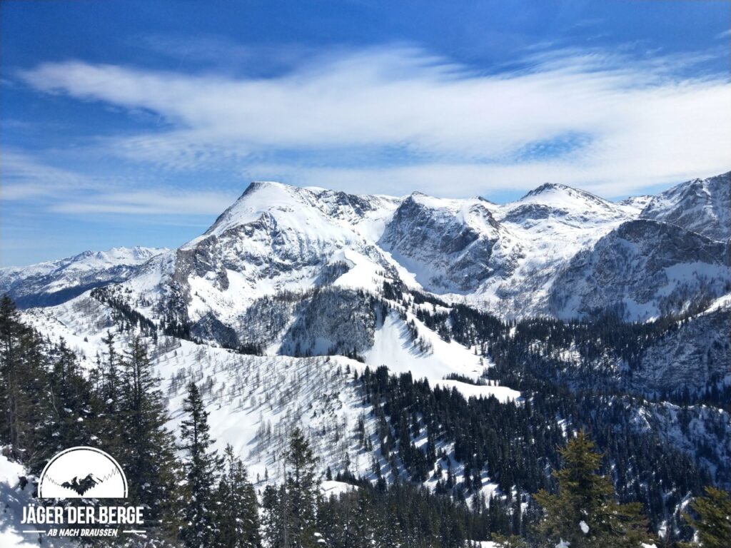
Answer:
<svg viewBox="0 0 731 548"><path fill-rule="evenodd" d="M167 250L118 247L27 267L0 268L0 293L10 295L20 308L57 305L88 289L126 280L163 251Z"/></svg>

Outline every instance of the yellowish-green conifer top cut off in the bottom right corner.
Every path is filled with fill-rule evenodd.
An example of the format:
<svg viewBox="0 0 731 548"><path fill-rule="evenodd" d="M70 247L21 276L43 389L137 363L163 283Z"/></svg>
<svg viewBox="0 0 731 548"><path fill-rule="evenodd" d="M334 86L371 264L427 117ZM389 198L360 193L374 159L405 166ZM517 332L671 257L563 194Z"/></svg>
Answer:
<svg viewBox="0 0 731 548"><path fill-rule="evenodd" d="M702 548L731 546L731 494L714 487L705 488L705 497L696 498L691 508L697 517L686 520L697 530Z"/></svg>

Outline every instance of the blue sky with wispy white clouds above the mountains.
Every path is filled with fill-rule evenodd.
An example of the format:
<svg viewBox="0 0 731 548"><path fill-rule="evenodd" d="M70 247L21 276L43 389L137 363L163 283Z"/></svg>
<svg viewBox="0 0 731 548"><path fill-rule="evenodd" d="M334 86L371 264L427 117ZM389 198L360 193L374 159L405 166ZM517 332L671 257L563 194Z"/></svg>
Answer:
<svg viewBox="0 0 731 548"><path fill-rule="evenodd" d="M179 246L249 180L506 201L731 169L727 1L0 10L3 266Z"/></svg>

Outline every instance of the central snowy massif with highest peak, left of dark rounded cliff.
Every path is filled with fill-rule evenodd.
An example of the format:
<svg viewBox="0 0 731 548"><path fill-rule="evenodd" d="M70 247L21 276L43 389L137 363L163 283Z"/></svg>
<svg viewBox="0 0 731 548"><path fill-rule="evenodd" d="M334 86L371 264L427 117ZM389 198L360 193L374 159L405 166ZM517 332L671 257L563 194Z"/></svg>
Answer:
<svg viewBox="0 0 731 548"><path fill-rule="evenodd" d="M549 313L548 283L558 267L630 218L625 206L557 185L498 206L251 183L177 251L162 283L140 275L125 290L157 294L161 309L171 299L187 302L181 317L213 316L229 326L239 321L232 311L264 295L322 285L378 292L384 281L508 317Z"/></svg>

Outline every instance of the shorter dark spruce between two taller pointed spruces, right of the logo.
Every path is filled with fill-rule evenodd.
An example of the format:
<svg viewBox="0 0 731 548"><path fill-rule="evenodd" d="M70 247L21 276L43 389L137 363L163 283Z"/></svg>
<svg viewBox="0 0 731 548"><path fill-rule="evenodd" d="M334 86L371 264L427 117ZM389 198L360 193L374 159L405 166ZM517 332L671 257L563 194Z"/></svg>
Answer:
<svg viewBox="0 0 731 548"><path fill-rule="evenodd" d="M249 482L243 463L226 446L225 471L216 493L216 546L221 548L259 548L259 508L257 493Z"/></svg>

